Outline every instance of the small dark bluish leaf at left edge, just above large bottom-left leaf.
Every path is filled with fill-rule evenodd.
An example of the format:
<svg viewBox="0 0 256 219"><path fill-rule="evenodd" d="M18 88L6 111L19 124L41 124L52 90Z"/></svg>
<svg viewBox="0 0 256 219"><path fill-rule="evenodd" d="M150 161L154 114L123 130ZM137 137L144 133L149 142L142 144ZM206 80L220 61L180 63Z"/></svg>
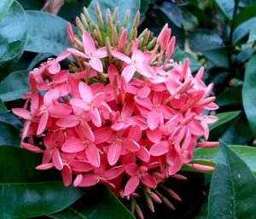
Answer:
<svg viewBox="0 0 256 219"><path fill-rule="evenodd" d="M20 146L20 130L16 129L14 126L0 122L0 133L0 146Z"/></svg>

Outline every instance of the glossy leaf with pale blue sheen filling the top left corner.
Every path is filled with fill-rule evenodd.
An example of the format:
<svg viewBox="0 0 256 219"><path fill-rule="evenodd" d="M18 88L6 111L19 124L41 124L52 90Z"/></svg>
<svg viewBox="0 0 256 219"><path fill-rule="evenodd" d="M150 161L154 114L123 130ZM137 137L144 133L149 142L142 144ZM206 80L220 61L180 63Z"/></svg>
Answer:
<svg viewBox="0 0 256 219"><path fill-rule="evenodd" d="M10 1L11 2L11 1ZM26 40L26 13L20 3L13 3L0 21L0 81L19 61Z"/></svg>

